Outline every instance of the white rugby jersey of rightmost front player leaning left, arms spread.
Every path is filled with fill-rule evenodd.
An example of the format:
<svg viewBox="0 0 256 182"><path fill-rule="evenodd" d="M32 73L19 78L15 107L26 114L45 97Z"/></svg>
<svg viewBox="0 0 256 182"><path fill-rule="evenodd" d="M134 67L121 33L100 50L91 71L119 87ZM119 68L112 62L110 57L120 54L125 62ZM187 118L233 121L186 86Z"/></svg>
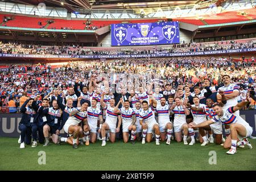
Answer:
<svg viewBox="0 0 256 182"><path fill-rule="evenodd" d="M236 116L233 114L233 113L235 113L233 110L233 106L229 107L228 109L222 109L222 110L223 110L222 117L219 117L218 115L216 115L215 117L212 118L212 121L214 123L221 122L225 125L230 125L232 123L238 123L245 127L249 126L249 123L247 123L242 117Z"/></svg>

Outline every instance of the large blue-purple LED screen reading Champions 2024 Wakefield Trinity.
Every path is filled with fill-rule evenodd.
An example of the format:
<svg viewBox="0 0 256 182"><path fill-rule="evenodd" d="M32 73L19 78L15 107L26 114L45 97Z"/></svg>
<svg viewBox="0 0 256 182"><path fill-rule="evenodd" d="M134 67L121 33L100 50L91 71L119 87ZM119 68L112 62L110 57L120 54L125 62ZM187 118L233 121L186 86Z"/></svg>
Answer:
<svg viewBox="0 0 256 182"><path fill-rule="evenodd" d="M178 44L179 22L112 24L111 36L112 46Z"/></svg>

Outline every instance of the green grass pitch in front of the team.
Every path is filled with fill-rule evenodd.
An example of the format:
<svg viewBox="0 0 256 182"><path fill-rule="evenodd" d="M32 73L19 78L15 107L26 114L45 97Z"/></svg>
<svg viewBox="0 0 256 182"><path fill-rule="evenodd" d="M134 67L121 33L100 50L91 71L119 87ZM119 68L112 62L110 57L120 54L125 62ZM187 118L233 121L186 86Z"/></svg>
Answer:
<svg viewBox="0 0 256 182"><path fill-rule="evenodd" d="M0 138L0 170L256 170L256 140L253 149L238 148L237 154L227 155L222 146L184 146L172 141L170 146L155 142L124 144L101 142L73 149L68 144L52 144L19 148L18 138ZM46 164L39 165L39 151L46 152ZM216 151L217 164L210 165L210 151Z"/></svg>

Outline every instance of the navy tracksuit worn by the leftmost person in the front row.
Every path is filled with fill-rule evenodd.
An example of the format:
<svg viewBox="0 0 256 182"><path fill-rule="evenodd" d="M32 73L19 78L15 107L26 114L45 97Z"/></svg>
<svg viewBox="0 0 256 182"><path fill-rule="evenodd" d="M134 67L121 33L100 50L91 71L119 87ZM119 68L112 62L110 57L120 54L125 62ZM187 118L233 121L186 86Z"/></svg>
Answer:
<svg viewBox="0 0 256 182"><path fill-rule="evenodd" d="M26 107L29 100L24 102L20 107L20 112L22 113L22 118L19 122L20 138L21 142L26 144L31 143L31 133L34 140L37 140L37 130L38 126L35 122L36 111L32 107ZM34 118L31 120L31 118Z"/></svg>

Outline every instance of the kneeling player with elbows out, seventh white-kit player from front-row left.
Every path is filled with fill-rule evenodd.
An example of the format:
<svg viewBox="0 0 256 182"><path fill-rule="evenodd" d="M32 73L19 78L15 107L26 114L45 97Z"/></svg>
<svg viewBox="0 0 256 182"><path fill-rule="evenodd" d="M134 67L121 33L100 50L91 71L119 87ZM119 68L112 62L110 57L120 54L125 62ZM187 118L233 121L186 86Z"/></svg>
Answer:
<svg viewBox="0 0 256 182"><path fill-rule="evenodd" d="M175 103L170 107L170 110L171 114L174 114L174 134L176 141L181 142L181 134L183 132L183 142L184 144L188 144L188 124L186 122L186 115L188 115L190 111L179 97L175 98ZM195 140L193 135L191 135L191 139Z"/></svg>

